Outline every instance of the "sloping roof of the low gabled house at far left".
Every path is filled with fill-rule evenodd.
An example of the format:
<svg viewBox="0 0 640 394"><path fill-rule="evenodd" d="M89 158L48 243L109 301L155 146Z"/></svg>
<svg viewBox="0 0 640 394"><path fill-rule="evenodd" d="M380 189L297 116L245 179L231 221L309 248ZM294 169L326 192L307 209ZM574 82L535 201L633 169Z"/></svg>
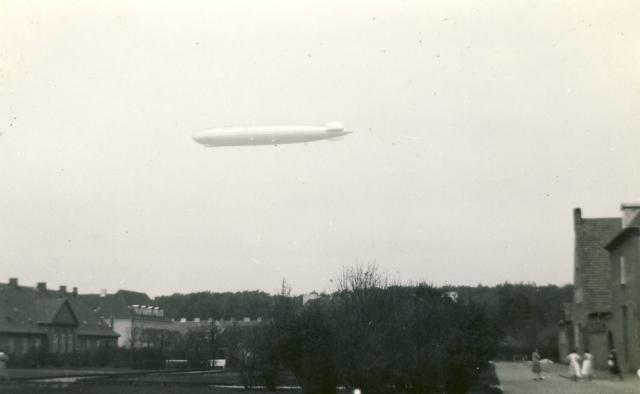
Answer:
<svg viewBox="0 0 640 394"><path fill-rule="evenodd" d="M77 325L78 335L118 336L78 296L0 283L0 332L46 334L46 325Z"/></svg>

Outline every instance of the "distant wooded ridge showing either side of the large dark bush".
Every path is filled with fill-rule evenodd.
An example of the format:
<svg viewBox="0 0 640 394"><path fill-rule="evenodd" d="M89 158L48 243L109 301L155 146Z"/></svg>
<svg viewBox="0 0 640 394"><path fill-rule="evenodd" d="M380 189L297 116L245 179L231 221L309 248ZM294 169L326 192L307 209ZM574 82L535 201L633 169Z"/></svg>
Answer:
<svg viewBox="0 0 640 394"><path fill-rule="evenodd" d="M354 269L351 268L352 271ZM360 275L351 272L350 276L371 275L362 267L359 269ZM357 287L357 283L344 282L347 280L344 276L338 279L338 287ZM339 283L341 280L344 283ZM564 318L563 303L571 302L571 285L503 283L497 286L450 286L441 290L455 291L460 302L473 301L485 311L501 335L497 357L522 358L537 347L543 357L557 359L557 323ZM165 310L166 316L176 319L262 317L269 320L274 316L278 297L280 295L262 291L176 293L157 297L155 303ZM301 297L294 297L292 302L301 304Z"/></svg>

